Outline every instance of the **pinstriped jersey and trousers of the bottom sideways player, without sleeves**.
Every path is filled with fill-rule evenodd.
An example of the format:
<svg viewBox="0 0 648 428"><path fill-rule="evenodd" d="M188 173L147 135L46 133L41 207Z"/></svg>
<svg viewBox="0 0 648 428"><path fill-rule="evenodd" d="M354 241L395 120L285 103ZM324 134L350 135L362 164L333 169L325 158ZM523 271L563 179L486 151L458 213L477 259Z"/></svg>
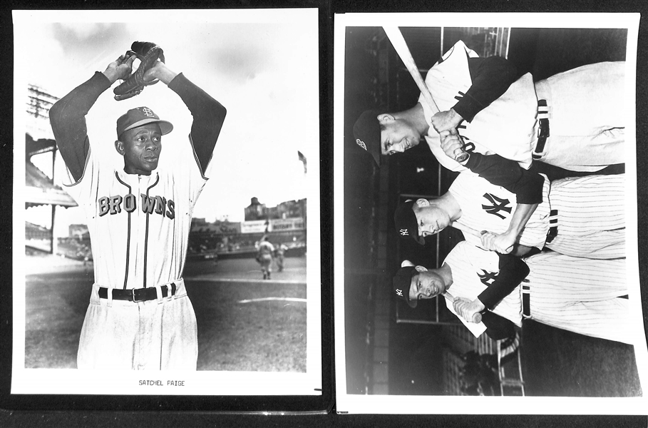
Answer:
<svg viewBox="0 0 648 428"><path fill-rule="evenodd" d="M444 263L452 269L448 291L469 300L499 273L496 253L466 241L458 243ZM622 297L627 297L624 259L591 260L550 251L526 258L525 263L529 275L494 308L495 314L516 325L525 315L582 335L632 343L628 300ZM452 308L448 300L446 304Z"/></svg>

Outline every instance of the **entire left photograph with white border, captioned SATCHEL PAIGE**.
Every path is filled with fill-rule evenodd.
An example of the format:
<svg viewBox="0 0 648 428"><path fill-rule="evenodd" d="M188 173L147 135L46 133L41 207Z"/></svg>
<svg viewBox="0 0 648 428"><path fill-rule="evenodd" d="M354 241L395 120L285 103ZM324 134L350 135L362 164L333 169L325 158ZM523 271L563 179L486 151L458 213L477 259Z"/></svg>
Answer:
<svg viewBox="0 0 648 428"><path fill-rule="evenodd" d="M11 393L321 395L317 8L147 14L14 11Z"/></svg>

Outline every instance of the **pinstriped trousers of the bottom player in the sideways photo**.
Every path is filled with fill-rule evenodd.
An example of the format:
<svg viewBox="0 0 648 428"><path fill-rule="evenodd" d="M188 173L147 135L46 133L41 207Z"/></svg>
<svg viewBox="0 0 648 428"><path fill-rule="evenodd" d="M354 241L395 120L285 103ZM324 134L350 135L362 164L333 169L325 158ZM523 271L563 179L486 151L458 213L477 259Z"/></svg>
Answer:
<svg viewBox="0 0 648 428"><path fill-rule="evenodd" d="M625 259L592 260L547 252L525 262L531 272L522 283L523 301L530 319L632 344L628 300L619 297L627 295Z"/></svg>

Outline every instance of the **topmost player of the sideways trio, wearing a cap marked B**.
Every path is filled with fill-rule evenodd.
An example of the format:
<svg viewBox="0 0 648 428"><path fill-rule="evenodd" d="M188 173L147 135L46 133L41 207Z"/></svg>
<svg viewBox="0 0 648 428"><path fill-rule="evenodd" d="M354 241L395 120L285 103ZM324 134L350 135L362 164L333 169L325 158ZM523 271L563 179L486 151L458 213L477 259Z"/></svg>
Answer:
<svg viewBox="0 0 648 428"><path fill-rule="evenodd" d="M427 73L438 106L421 95L405 111L365 111L355 143L371 153L402 153L422 138L449 170L466 168L444 156L439 132L457 129L468 153L498 154L529 168L532 161L572 171L598 171L624 162L624 62L602 62L533 82L517 78L505 58L479 58L458 41Z"/></svg>

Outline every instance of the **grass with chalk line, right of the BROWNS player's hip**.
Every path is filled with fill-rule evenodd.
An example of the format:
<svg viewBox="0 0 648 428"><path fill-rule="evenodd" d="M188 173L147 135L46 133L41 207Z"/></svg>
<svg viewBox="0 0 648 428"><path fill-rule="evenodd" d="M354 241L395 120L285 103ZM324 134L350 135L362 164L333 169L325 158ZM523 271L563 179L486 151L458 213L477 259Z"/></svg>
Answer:
<svg viewBox="0 0 648 428"><path fill-rule="evenodd" d="M272 282L191 282L198 370L306 372L306 287Z"/></svg>

